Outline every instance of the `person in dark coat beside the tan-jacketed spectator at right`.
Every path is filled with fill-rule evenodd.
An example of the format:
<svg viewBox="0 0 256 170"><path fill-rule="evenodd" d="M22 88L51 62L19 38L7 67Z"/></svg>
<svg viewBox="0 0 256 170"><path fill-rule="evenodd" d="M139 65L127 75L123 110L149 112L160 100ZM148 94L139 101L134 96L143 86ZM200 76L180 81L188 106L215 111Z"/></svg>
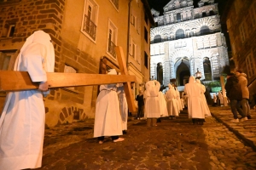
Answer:
<svg viewBox="0 0 256 170"><path fill-rule="evenodd" d="M241 115L241 118L244 118L246 115L243 113L240 107L240 102L242 99L241 86L234 73L229 73L227 75L225 89L227 97L230 99L230 109L234 116L234 120L232 120L231 122L239 122L237 111Z"/></svg>

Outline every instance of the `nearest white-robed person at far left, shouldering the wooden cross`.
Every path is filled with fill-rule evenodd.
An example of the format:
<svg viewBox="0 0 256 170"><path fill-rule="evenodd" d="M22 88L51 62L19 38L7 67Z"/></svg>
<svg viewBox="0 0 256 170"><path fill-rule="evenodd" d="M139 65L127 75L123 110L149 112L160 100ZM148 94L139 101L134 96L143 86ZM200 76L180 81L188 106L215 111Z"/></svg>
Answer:
<svg viewBox="0 0 256 170"><path fill-rule="evenodd" d="M49 84L46 72L53 72L55 50L49 34L35 31L20 49L15 71L27 71L36 90L7 95L0 119L0 169L16 170L42 166L44 143L44 94Z"/></svg>

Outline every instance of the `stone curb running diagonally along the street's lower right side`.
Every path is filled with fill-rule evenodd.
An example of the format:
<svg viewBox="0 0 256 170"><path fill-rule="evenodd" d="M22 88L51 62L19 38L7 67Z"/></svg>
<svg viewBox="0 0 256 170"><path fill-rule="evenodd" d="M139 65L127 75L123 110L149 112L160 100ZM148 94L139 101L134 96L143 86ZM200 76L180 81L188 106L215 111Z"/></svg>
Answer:
<svg viewBox="0 0 256 170"><path fill-rule="evenodd" d="M256 145L254 144L253 140L247 139L244 135L242 135L241 133L239 133L239 131L237 131L236 129L234 129L233 127L230 127L230 125L226 122L224 122L223 120L221 120L218 116L214 115L214 113L212 113L212 116L218 121L224 124L225 127L227 127L232 133L235 133L236 136L241 139L245 144L251 146L253 148L254 151L256 151Z"/></svg>

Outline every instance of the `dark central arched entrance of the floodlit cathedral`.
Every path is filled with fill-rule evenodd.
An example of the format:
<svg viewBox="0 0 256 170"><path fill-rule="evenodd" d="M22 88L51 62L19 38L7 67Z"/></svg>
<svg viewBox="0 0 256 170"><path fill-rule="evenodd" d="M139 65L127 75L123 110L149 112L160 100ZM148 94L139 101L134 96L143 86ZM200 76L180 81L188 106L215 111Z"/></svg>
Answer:
<svg viewBox="0 0 256 170"><path fill-rule="evenodd" d="M179 64L176 70L177 86L184 86L189 82L190 77L189 60L181 59L181 61L177 62L176 64Z"/></svg>

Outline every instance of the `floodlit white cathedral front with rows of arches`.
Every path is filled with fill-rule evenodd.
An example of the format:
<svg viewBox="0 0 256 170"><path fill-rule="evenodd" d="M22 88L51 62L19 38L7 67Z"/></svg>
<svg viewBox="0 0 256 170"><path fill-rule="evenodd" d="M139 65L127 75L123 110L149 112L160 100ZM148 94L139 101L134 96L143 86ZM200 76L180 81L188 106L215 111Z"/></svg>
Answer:
<svg viewBox="0 0 256 170"><path fill-rule="evenodd" d="M172 0L163 15L151 11L157 26L150 31L150 77L164 87L171 79L183 86L196 71L203 81L218 80L229 65L218 4L201 0L198 5L194 8L192 0Z"/></svg>

